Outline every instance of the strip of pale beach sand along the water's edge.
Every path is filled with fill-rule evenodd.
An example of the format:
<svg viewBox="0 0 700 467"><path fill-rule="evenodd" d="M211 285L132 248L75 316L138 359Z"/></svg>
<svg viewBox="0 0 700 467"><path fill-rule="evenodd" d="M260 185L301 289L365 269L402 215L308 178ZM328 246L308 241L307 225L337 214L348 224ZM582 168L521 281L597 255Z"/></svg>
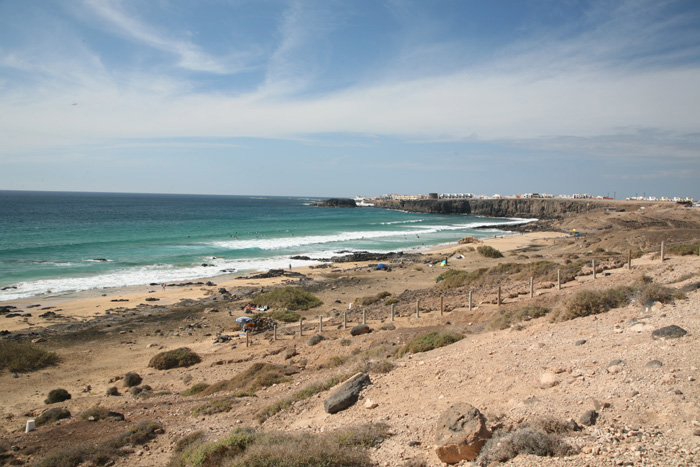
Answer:
<svg viewBox="0 0 700 467"><path fill-rule="evenodd" d="M561 238L566 236L560 232L531 232L523 235L506 235L502 237L494 237L484 239L482 243L484 245L490 245L500 251L510 251L518 248L525 248L530 245L543 244L548 240L554 238ZM477 244L468 245L440 245L434 249L424 252L426 256L434 255L452 255L455 252L468 247L478 246ZM362 266L363 263L335 263L335 271L347 271L353 270L357 267ZM308 276L311 279L318 278L320 275L325 274L323 269L312 269L309 266L299 267L293 269L294 272L298 272ZM17 308L28 311L32 313L32 318L29 319L17 319L11 318L3 320L0 324L1 329L6 329L10 332L18 331L21 329L26 329L33 326L42 326L50 324L42 318L38 318L38 315L46 310L42 308L51 308L51 311L67 316L71 319L78 321L85 321L96 316L104 315L109 309L116 309L120 307L134 308L139 304L145 305L160 305L160 306L170 306L179 303L182 300L199 300L205 298L213 293L216 293L219 288L225 287L232 293L235 293L236 288L270 288L280 285L283 281L289 280L288 277L275 277L267 279L240 279L236 278L240 276L218 276L204 279L193 279L191 282L207 282L212 281L217 284L215 287L206 286L192 286L192 287L166 287L165 290L161 286L132 286L132 287L120 287L120 288L110 288L103 290L91 290L85 292L76 293L72 297L34 297L16 301L9 301L3 303L4 305L13 305ZM186 282L186 281L183 281ZM187 281L190 282L190 281ZM147 298L158 298L158 301L148 302ZM128 300L125 302L112 302L111 300ZM29 305L40 305L34 308L27 308ZM60 311L58 311L60 310Z"/></svg>

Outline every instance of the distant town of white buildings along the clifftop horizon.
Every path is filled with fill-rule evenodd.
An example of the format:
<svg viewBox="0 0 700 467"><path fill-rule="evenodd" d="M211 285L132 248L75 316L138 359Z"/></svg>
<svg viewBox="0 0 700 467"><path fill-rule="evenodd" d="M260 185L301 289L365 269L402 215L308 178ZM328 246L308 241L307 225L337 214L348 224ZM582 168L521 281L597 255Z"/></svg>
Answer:
<svg viewBox="0 0 700 467"><path fill-rule="evenodd" d="M522 193L514 195L483 195L474 193L428 193L427 195L403 195L397 193L384 194L378 197L369 198L364 196L355 197L355 202L359 206L373 206L372 201L377 200L419 200L419 199L599 199L599 200L614 200L618 199L615 196L601 196L601 195L591 195L588 193L574 193L569 195L553 195L549 193ZM686 205L693 205L695 207L700 207L700 203L695 203L695 200L690 197L680 197L680 196L632 196L629 198L620 198L627 201L655 201L655 202L676 202L683 203Z"/></svg>

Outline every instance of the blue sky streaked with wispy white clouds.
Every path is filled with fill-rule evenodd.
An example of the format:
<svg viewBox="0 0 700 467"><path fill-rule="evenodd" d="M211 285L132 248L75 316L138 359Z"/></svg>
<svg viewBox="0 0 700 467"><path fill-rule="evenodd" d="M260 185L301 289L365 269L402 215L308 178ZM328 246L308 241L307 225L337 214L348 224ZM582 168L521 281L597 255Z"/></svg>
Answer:
<svg viewBox="0 0 700 467"><path fill-rule="evenodd" d="M697 0L0 0L0 189L699 180Z"/></svg>

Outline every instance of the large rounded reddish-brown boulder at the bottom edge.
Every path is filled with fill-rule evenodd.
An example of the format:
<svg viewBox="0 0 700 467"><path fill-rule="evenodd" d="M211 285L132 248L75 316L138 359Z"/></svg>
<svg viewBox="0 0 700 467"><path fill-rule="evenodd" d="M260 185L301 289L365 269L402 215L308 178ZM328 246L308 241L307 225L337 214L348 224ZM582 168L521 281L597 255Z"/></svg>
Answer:
<svg viewBox="0 0 700 467"><path fill-rule="evenodd" d="M491 437L486 419L478 409L467 403L450 406L440 415L435 430L438 458L447 464L476 459Z"/></svg>

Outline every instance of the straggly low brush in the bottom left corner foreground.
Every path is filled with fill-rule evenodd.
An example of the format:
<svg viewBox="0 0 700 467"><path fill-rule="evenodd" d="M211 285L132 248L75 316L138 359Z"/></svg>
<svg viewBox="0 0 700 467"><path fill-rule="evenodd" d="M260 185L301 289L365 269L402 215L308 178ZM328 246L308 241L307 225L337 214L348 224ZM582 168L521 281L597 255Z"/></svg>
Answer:
<svg viewBox="0 0 700 467"><path fill-rule="evenodd" d="M143 421L102 444L63 449L49 455L36 465L37 467L77 467L113 464L113 459L123 455L122 448L145 444L160 433L163 433L163 426L160 423Z"/></svg>

